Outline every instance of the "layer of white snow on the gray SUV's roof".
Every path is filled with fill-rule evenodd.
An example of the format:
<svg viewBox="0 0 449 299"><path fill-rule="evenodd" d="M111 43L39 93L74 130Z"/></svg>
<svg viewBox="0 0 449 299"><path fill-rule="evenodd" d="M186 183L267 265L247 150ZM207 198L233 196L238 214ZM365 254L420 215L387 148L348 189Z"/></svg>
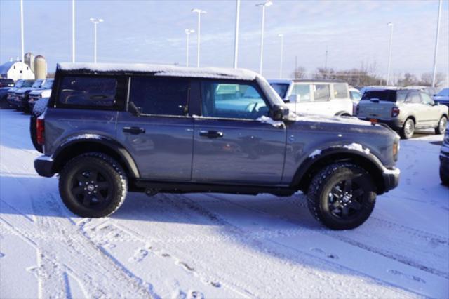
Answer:
<svg viewBox="0 0 449 299"><path fill-rule="evenodd" d="M62 71L90 71L90 72L148 72L154 76L170 77L200 77L219 79L254 80L257 73L248 69L225 69L218 67L177 67L174 65L147 65L142 63L69 63L58 64Z"/></svg>

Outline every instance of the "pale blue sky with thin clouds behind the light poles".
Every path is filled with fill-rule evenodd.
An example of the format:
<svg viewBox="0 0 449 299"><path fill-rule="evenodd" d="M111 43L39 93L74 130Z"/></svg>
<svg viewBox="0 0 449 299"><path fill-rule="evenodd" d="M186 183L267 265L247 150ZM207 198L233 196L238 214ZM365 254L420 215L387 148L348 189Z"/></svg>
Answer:
<svg viewBox="0 0 449 299"><path fill-rule="evenodd" d="M241 1L239 67L258 70L261 8ZM349 69L375 63L387 72L389 28L394 22L391 72L431 72L438 1L281 1L267 8L264 76L279 74L284 34L284 75L297 65L314 72L323 67ZM201 66L232 67L235 1L91 1L76 0L76 60L93 61L93 25L98 26L98 62L185 63L185 29L196 29L192 8L201 19ZM25 52L43 55L48 69L72 60L72 1L25 0ZM438 71L449 73L449 1L443 1ZM190 63L196 64L196 34ZM20 56L20 2L0 0L0 62Z"/></svg>

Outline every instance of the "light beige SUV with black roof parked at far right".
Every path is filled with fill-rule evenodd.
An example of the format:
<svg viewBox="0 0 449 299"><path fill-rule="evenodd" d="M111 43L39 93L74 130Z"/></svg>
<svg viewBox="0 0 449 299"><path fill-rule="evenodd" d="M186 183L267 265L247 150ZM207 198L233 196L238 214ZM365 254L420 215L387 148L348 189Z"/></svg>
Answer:
<svg viewBox="0 0 449 299"><path fill-rule="evenodd" d="M444 134L448 107L438 105L427 93L411 89L371 89L358 103L359 119L382 122L408 139L415 129L434 128Z"/></svg>

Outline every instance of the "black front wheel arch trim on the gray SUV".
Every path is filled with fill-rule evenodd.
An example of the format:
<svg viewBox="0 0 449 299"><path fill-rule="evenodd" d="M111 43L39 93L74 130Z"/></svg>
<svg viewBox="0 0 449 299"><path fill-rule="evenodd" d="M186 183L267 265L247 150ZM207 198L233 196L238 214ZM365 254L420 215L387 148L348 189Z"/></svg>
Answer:
<svg viewBox="0 0 449 299"><path fill-rule="evenodd" d="M377 194L385 192L382 162L373 154L366 154L358 150L351 150L344 147L329 148L322 150L321 154L309 157L304 161L293 177L290 187L307 193L309 185L314 175L329 164L337 162L351 162L365 169L373 178L377 187Z"/></svg>

